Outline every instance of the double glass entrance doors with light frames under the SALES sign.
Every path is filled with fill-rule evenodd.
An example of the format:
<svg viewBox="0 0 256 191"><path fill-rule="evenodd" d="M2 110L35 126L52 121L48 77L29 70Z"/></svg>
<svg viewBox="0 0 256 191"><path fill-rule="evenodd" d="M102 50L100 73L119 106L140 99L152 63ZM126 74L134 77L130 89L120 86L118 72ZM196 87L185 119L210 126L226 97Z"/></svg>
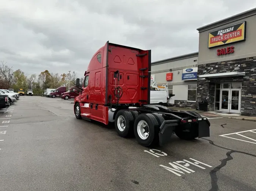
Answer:
<svg viewBox="0 0 256 191"><path fill-rule="evenodd" d="M220 111L240 113L241 89L221 89Z"/></svg>

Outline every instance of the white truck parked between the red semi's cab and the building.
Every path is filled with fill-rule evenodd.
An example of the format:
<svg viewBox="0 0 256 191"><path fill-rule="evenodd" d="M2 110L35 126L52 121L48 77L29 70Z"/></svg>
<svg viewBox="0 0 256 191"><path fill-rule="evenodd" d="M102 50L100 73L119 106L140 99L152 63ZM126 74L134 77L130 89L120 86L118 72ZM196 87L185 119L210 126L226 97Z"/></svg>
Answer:
<svg viewBox="0 0 256 191"><path fill-rule="evenodd" d="M150 83L150 103L159 103L163 105L174 104L174 95L169 95L168 84L157 85L156 82Z"/></svg>

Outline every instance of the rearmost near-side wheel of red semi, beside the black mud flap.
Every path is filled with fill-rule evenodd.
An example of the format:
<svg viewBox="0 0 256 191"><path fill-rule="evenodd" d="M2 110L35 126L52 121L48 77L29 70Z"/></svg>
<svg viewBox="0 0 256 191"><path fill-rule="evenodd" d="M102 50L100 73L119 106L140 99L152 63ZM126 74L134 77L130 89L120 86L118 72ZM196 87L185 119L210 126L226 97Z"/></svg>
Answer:
<svg viewBox="0 0 256 191"><path fill-rule="evenodd" d="M159 144L159 122L153 114L140 114L134 122L134 135L142 146Z"/></svg>

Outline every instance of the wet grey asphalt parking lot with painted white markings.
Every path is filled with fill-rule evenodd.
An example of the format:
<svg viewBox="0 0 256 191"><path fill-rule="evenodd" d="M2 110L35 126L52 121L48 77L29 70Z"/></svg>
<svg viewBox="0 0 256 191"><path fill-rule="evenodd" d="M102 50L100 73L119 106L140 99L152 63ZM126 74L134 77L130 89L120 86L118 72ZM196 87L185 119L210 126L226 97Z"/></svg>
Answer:
<svg viewBox="0 0 256 191"><path fill-rule="evenodd" d="M210 137L146 148L77 120L71 102L23 96L0 110L1 191L256 190L256 122L209 119Z"/></svg>

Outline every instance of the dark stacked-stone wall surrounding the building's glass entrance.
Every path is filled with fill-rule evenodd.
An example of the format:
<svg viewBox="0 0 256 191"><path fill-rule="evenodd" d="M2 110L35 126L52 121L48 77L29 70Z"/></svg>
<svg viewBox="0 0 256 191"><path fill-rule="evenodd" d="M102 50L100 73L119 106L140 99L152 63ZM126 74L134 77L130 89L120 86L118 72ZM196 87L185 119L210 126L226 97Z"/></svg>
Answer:
<svg viewBox="0 0 256 191"><path fill-rule="evenodd" d="M215 83L242 82L241 115L256 116L256 57L246 59L229 60L226 62L216 62L198 65L198 75L232 72L245 72L242 77L226 77L215 79L197 80L197 102L208 99L208 110L214 111Z"/></svg>

